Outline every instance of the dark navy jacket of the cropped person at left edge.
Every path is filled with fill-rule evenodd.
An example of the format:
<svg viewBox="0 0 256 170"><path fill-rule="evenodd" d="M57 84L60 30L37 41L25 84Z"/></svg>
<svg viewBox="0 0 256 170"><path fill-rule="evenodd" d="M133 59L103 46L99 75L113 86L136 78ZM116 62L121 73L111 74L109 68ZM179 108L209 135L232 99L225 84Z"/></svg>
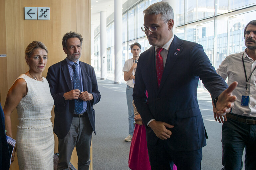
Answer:
<svg viewBox="0 0 256 170"><path fill-rule="evenodd" d="M7 170L10 167L10 153L5 135L4 111L0 104L0 169Z"/></svg>

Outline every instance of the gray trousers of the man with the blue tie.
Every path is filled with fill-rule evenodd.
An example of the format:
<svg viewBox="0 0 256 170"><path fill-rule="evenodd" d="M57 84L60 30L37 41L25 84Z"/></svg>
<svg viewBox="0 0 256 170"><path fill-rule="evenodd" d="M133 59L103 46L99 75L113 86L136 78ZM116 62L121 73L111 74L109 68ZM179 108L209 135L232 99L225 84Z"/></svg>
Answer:
<svg viewBox="0 0 256 170"><path fill-rule="evenodd" d="M73 118L68 134L63 139L59 138L58 170L69 170L69 162L75 146L78 170L89 170L92 132L93 128L87 115L83 118Z"/></svg>

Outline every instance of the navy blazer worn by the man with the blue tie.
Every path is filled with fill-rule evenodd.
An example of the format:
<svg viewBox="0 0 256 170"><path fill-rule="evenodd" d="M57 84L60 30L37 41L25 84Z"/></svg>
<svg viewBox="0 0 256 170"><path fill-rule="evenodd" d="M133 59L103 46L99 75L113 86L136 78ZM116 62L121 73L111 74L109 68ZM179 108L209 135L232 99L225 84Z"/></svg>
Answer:
<svg viewBox="0 0 256 170"><path fill-rule="evenodd" d="M93 105L100 101L101 94L98 90L94 68L87 63L79 62L83 80L83 91L88 91L94 98L91 101L87 101L87 113L93 131L96 133L95 111L93 109ZM51 95L54 99L55 105L53 131L59 138L63 139L69 132L75 107L74 100L64 100L63 98L64 93L73 90L66 58L49 67L46 79L49 82Z"/></svg>

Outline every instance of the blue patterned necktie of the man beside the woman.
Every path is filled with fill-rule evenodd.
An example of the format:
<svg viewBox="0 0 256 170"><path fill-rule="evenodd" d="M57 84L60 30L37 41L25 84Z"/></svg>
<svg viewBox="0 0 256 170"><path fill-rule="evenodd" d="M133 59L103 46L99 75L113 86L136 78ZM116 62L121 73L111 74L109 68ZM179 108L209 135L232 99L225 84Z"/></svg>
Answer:
<svg viewBox="0 0 256 170"><path fill-rule="evenodd" d="M77 71L77 63L74 63L72 65L73 68L73 87L74 89L79 89L82 91L81 83L80 83L80 77ZM81 99L74 99L75 100L75 114L80 114L83 110L83 101Z"/></svg>

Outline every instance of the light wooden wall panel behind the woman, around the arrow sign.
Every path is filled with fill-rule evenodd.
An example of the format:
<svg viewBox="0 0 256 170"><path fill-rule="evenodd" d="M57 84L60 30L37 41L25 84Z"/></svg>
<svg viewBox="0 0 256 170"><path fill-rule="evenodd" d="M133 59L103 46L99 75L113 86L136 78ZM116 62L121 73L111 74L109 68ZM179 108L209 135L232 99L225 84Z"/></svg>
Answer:
<svg viewBox="0 0 256 170"><path fill-rule="evenodd" d="M50 7L50 20L24 20L24 7ZM0 101L2 107L7 92L15 79L29 67L25 62L25 49L34 41L41 41L48 48L49 66L65 59L62 37L70 31L83 36L81 61L91 64L91 4L90 0L1 0L0 1ZM16 137L17 112L11 115L13 135ZM54 112L52 111L52 122ZM55 152L58 152L58 138L55 135ZM92 147L91 147L92 151ZM91 156L92 160L92 156ZM77 167L74 150L71 162ZM92 165L92 162L91 162ZM18 170L17 155L10 170ZM92 166L91 168L92 169Z"/></svg>

